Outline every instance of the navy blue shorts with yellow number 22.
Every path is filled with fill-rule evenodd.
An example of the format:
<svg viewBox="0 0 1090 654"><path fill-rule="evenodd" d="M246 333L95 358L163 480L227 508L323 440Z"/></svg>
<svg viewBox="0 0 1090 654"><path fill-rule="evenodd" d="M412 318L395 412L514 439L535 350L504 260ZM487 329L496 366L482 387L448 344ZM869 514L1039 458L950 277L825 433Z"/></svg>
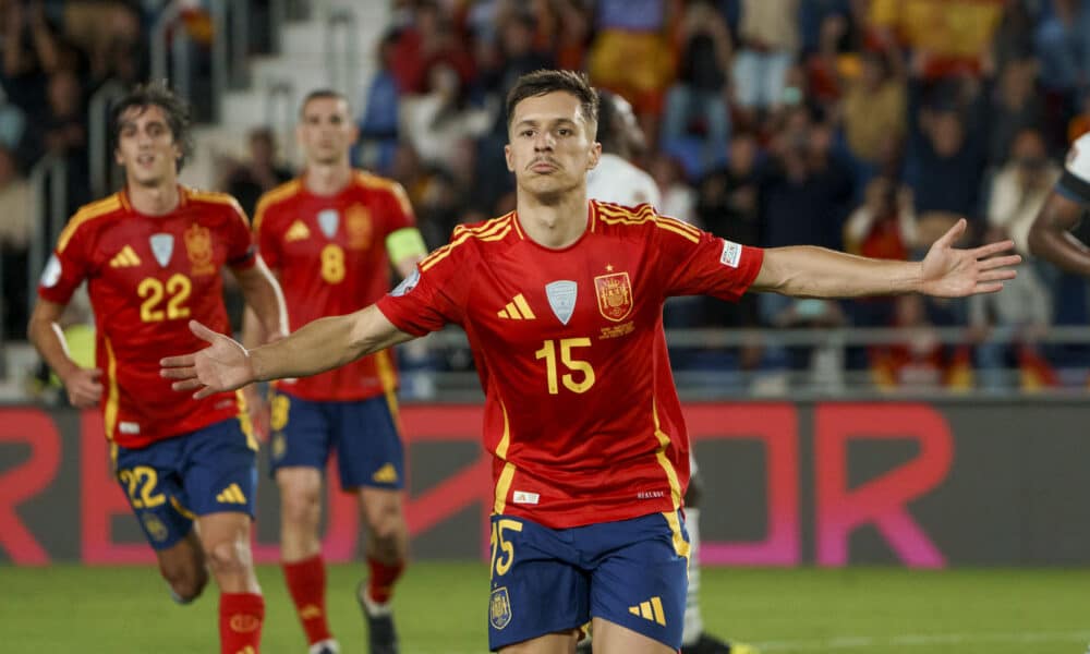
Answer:
<svg viewBox="0 0 1090 654"><path fill-rule="evenodd" d="M118 447L117 479L147 542L167 549L198 516L222 511L254 517L257 441L228 419L147 447Z"/></svg>

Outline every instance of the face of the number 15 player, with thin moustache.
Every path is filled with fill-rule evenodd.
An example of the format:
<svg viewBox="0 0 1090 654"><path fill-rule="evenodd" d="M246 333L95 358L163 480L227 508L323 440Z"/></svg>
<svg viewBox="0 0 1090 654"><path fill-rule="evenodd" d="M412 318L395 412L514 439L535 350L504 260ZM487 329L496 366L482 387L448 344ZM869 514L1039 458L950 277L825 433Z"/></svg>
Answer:
<svg viewBox="0 0 1090 654"><path fill-rule="evenodd" d="M591 126L579 98L570 93L549 93L516 105L504 152L519 187L548 195L585 185L586 171L602 154Z"/></svg>

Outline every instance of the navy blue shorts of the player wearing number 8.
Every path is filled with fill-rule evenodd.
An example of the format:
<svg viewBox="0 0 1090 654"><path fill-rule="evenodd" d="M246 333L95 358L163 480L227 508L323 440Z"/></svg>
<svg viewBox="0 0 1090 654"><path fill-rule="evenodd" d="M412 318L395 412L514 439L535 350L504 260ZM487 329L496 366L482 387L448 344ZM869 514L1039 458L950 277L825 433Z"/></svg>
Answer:
<svg viewBox="0 0 1090 654"><path fill-rule="evenodd" d="M274 390L269 426L269 468L302 465L325 470L336 450L341 488L400 489L404 450L392 396L317 402Z"/></svg>

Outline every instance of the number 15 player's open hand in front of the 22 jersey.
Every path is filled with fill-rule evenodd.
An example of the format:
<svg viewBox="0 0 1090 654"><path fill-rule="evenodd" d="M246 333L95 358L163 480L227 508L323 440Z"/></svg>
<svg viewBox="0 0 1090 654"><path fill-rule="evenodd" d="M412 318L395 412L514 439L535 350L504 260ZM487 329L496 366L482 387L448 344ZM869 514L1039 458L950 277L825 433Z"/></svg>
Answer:
<svg viewBox="0 0 1090 654"><path fill-rule="evenodd" d="M242 388L254 380L250 353L241 343L196 320L190 320L190 330L208 341L209 347L199 352L167 356L159 361L159 374L168 379L177 379L171 388L197 389L193 399L199 400L216 392Z"/></svg>

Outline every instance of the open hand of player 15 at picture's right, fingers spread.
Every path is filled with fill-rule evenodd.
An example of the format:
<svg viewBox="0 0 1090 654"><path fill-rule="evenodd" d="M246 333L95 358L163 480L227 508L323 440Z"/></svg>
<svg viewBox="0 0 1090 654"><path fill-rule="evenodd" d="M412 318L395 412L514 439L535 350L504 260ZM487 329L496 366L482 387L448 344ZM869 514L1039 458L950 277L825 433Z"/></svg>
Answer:
<svg viewBox="0 0 1090 654"><path fill-rule="evenodd" d="M931 245L921 263L921 293L940 298L995 293L1003 290L1005 280L1015 278L1017 272L1012 266L1020 264L1021 256L995 256L1009 252L1014 241L958 250L954 247L954 242L965 233L965 229L966 220L962 218Z"/></svg>

